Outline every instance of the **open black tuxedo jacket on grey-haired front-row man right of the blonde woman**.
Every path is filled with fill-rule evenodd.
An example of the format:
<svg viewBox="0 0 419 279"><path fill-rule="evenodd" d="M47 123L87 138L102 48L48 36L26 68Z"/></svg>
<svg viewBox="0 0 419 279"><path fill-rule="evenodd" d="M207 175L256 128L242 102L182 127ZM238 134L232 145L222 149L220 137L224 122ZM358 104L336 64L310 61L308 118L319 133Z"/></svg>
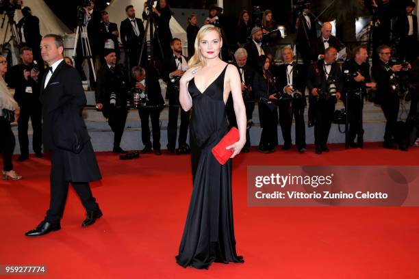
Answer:
<svg viewBox="0 0 419 279"><path fill-rule="evenodd" d="M279 65L275 68L275 77L277 77L277 88L279 90L279 94L282 96L287 97L288 94L283 92L283 88L288 85L287 79L287 70L285 64ZM292 68L292 88L294 90L298 90L305 96L305 78L307 77L307 70L305 70L303 65L293 63ZM293 104L298 107L304 107L307 103L305 98L298 98L293 100Z"/></svg>

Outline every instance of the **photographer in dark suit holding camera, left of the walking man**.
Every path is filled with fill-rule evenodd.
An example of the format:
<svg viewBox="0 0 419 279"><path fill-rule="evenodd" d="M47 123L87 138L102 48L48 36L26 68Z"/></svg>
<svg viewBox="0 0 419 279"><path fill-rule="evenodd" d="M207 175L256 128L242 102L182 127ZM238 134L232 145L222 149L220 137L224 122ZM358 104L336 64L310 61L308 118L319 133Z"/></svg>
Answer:
<svg viewBox="0 0 419 279"><path fill-rule="evenodd" d="M40 65L34 61L32 49L22 47L19 56L22 63L10 68L6 74L6 82L10 88L15 88L14 99L21 107L21 117L18 120L18 139L21 146L18 161L21 162L29 159L29 118L34 131L32 148L36 157L42 157L42 111L39 101L42 74Z"/></svg>

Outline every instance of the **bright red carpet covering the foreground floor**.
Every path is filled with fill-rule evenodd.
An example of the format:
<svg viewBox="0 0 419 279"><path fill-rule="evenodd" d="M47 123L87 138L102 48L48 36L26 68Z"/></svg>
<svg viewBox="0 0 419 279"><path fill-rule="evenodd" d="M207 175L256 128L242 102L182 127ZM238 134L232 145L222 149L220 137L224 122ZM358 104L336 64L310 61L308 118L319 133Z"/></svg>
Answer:
<svg viewBox="0 0 419 279"><path fill-rule="evenodd" d="M418 207L248 207L247 165L417 165L409 152L367 144L329 146L301 155L293 148L240 154L233 162L233 208L244 264L209 270L175 263L192 190L190 157L144 155L97 159L104 176L93 183L104 216L81 228L84 209L73 189L62 229L28 238L49 204L49 161L16 163L22 181L0 181L0 265L47 265L38 278L419 278ZM3 277L3 276L2 276ZM10 278L34 278L13 276Z"/></svg>

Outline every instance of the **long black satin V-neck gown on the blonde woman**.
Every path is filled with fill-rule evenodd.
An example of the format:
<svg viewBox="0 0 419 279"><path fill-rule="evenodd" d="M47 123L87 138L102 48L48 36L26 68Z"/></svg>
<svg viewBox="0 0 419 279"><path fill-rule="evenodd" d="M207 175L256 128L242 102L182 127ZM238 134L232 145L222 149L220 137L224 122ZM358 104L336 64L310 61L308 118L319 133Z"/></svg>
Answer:
<svg viewBox="0 0 419 279"><path fill-rule="evenodd" d="M228 65L227 65L228 66ZM194 189L176 261L207 269L211 263L243 263L236 253L231 197L231 160L220 165L211 149L228 131L223 99L227 66L204 92L192 79L188 91L193 110L190 147Z"/></svg>

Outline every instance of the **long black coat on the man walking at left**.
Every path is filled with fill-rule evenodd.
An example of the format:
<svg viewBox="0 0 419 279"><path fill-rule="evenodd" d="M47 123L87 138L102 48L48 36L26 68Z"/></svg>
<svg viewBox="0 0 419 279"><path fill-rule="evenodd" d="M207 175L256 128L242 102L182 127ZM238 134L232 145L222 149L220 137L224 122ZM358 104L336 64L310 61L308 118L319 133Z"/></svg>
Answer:
<svg viewBox="0 0 419 279"><path fill-rule="evenodd" d="M79 73L63 60L44 89L47 74L40 92L44 146L64 152L65 181L97 181L101 174L81 115L86 96Z"/></svg>

